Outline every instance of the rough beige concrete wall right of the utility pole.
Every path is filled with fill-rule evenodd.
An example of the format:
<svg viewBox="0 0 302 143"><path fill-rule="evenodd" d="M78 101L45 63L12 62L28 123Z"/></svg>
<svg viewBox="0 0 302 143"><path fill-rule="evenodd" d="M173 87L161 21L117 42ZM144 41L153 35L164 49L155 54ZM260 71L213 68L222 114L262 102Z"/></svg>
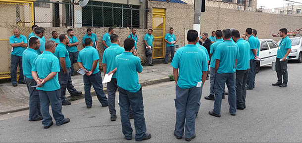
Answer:
<svg viewBox="0 0 302 143"><path fill-rule="evenodd" d="M233 10L226 8L206 7L201 13L201 31L207 32L217 29L235 28L240 34L245 34L247 28L257 30L259 38L274 39L277 42L280 37L273 37L279 29L287 28L289 32L302 27L302 16L278 15L263 12Z"/></svg>

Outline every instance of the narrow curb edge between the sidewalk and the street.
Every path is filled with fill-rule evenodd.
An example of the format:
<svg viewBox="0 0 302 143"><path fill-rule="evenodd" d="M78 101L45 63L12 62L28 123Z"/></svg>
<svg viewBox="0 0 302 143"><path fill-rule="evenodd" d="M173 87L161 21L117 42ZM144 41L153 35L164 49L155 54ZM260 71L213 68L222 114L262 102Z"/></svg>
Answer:
<svg viewBox="0 0 302 143"><path fill-rule="evenodd" d="M145 81L145 82L142 82L140 83L143 87L144 86L148 86L148 85L153 85L153 84L157 84L157 83L162 83L162 82L169 82L171 81L169 77L165 77L165 78L161 78L161 79L153 79L153 80L150 80L150 81ZM107 94L107 88L103 88L103 91ZM96 92L91 92L91 95L92 96L96 96ZM70 97L69 96L66 96L67 100L79 100L79 99L83 99L85 98L85 95L81 95L81 96L77 96L77 97ZM72 102L72 101L71 101ZM8 110L8 111L2 111L0 112L0 115L3 115L3 114L7 114L7 113L12 113L12 112L18 112L18 111L23 111L23 110L27 110L29 109L29 106L27 107L21 107L21 108L17 108L17 109L12 109L12 110Z"/></svg>

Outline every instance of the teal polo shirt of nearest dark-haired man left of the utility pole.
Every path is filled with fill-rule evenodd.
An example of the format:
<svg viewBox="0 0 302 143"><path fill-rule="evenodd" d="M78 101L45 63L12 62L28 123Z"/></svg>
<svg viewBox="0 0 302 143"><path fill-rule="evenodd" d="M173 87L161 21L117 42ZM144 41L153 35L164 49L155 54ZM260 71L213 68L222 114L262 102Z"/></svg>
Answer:
<svg viewBox="0 0 302 143"><path fill-rule="evenodd" d="M131 52L123 52L115 57L117 85L135 93L141 89L137 72L143 71L141 59Z"/></svg>

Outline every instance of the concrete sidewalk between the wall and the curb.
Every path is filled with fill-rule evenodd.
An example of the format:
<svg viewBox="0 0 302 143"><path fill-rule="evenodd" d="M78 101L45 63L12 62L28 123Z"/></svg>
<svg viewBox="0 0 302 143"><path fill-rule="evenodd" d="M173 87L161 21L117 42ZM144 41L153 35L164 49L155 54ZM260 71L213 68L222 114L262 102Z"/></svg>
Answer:
<svg viewBox="0 0 302 143"><path fill-rule="evenodd" d="M103 72L102 78L104 77ZM155 64L153 67L144 66L143 72L139 73L139 82L142 86L170 81L169 75L173 74L173 68L169 64ZM84 98L84 84L82 75L71 77L72 83L83 95L77 98ZM106 93L106 85L103 84ZM91 88L92 95L95 96L94 88ZM66 90L66 96L70 99L70 94ZM74 99L73 99L74 100ZM10 82L0 84L0 114L16 112L28 109L29 93L25 84L18 84L13 87Z"/></svg>

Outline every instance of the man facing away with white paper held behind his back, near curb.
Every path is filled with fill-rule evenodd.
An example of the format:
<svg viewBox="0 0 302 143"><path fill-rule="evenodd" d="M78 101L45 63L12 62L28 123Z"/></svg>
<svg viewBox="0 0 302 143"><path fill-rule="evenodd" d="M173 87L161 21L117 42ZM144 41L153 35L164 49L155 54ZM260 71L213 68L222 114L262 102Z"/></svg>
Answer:
<svg viewBox="0 0 302 143"><path fill-rule="evenodd" d="M108 101L103 91L101 72L99 69L99 52L96 48L92 47L94 43L91 38L86 38L84 43L85 48L79 53L78 65L80 68L86 70L86 74L83 76L86 107L92 107L91 85L93 85L96 91L101 106L107 107Z"/></svg>

